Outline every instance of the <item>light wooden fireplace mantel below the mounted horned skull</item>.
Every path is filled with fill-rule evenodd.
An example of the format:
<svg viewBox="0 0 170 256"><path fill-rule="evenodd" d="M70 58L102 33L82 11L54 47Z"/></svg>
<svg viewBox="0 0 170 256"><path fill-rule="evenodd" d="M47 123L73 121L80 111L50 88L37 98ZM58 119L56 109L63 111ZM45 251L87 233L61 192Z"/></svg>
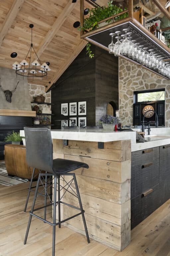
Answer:
<svg viewBox="0 0 170 256"><path fill-rule="evenodd" d="M0 116L36 116L36 111L17 110L17 109L0 109Z"/></svg>

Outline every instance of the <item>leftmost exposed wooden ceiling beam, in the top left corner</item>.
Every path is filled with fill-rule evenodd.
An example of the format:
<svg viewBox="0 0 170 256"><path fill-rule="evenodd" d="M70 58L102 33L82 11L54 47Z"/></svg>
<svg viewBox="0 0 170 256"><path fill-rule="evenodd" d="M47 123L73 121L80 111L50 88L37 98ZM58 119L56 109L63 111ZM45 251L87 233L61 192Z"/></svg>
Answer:
<svg viewBox="0 0 170 256"><path fill-rule="evenodd" d="M14 0L13 5L11 6L3 24L2 29L0 32L0 46L8 33L8 30L10 29L12 23L14 22L22 4L24 3L24 0Z"/></svg>

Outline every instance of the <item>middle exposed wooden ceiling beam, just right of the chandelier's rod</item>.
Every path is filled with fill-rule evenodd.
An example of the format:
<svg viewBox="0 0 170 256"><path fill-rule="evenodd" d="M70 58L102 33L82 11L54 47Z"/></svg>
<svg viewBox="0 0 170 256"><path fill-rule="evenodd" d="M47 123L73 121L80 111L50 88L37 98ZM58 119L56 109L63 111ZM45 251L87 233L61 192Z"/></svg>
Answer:
<svg viewBox="0 0 170 256"><path fill-rule="evenodd" d="M79 0L77 0L76 3L72 3L72 0L69 0L58 18L55 20L54 24L52 25L51 29L48 31L46 36L44 37L42 43L40 44L37 55L40 56L45 48L48 46L48 44L51 42L54 35L57 34L57 32L60 30L60 27L64 23L64 21L68 18L71 11L75 8L75 5L78 3Z"/></svg>

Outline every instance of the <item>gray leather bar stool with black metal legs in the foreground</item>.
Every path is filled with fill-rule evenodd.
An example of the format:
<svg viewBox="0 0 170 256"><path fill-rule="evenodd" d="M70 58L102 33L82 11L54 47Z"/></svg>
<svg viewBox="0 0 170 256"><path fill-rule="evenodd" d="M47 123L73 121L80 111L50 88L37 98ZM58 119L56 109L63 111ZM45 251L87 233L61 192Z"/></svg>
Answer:
<svg viewBox="0 0 170 256"><path fill-rule="evenodd" d="M78 189L78 185L77 185L77 181L76 181L76 176L75 176L75 173L69 173L69 172L74 171L81 167L89 168L89 166L85 163L81 163L81 162L77 162L77 161L71 161L71 160L60 159L60 158L53 159L53 157L52 157L52 153L53 153L52 152L52 139L51 139L51 132L50 132L49 128L24 127L24 131L25 131L25 138L26 138L26 160L27 160L28 165L33 168L37 168L37 169L44 170L47 172L47 173L39 174L39 178L38 178L38 182L37 182L37 186L36 186L36 190L35 190L35 195L34 195L34 199L33 199L32 209L30 211L30 218L29 218L29 222L28 222L28 226L27 226L24 244L26 244L26 242L27 242L27 237L28 237L28 233L29 233L29 229L30 229L32 216L34 216L34 217L42 220L44 223L48 223L48 224L52 225L52 227L53 227L52 256L54 256L55 255L55 227L56 227L56 225L58 225L60 228L61 223L68 221L74 217L77 217L78 215L82 215L85 233L86 233L86 237L87 237L87 242L90 243L88 230L87 230L87 226L86 226L86 221L85 221L85 217L84 217L85 211L83 210L83 207L82 207L80 193L79 193L79 189ZM64 176L65 175L72 176L71 182L74 181L75 188L76 188L76 192L74 191L74 193L76 194L75 196L78 198L80 208L75 207L70 204L67 204L61 200L63 198L63 195L62 195L62 197L60 197L60 190L62 190L62 189L65 190L65 192L69 192L73 195L73 193L72 193L73 191L70 192L68 190L70 188L71 183L70 182L67 183L65 181L65 179L62 177L63 175ZM48 196L48 192L47 192L48 187L43 186L43 188L45 190L45 194L48 196L50 203L49 204L45 203L44 206L35 209L34 207L35 207L36 199L39 196L38 195L39 184L40 184L40 182L42 183L42 179L44 180L44 177L47 177L47 176L52 176L54 179L53 201L51 201L50 197ZM64 179L64 181L66 182L66 185L68 185L67 188L66 188L66 185L65 186L60 185L60 177L62 177ZM58 191L58 200L56 200L56 191ZM73 207L74 209L79 210L79 213L77 213L65 220L61 220L61 216L60 216L60 205L61 204ZM49 222L46 220L46 214L44 214L44 218L42 218L34 213L37 210L40 210L43 208L46 209L46 207L48 207L50 205L53 206L53 221L52 222ZM56 222L56 206L57 205L58 205L58 222Z"/></svg>

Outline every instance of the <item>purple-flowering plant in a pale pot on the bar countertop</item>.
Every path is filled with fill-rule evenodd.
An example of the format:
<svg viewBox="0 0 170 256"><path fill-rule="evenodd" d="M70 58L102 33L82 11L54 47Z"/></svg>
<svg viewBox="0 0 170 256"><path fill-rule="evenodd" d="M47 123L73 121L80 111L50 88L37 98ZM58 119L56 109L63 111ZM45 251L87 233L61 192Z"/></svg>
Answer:
<svg viewBox="0 0 170 256"><path fill-rule="evenodd" d="M119 123L119 117L112 115L104 115L100 118L99 124L103 125L106 131L114 131L115 125Z"/></svg>

